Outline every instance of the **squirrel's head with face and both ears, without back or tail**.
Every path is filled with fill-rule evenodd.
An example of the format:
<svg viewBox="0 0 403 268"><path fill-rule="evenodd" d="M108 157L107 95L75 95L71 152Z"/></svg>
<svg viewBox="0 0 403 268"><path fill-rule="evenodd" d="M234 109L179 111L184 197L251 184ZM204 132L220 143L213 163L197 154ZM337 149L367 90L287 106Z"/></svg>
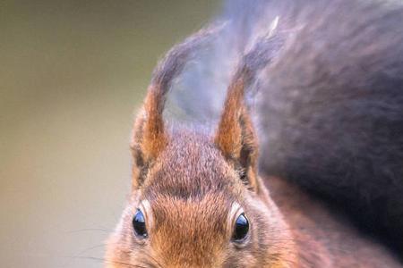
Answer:
<svg viewBox="0 0 403 268"><path fill-rule="evenodd" d="M245 72L230 83L214 135L164 125L169 82L205 38L174 47L154 73L133 128L133 189L107 241L107 267L293 265L287 224L257 175Z"/></svg>

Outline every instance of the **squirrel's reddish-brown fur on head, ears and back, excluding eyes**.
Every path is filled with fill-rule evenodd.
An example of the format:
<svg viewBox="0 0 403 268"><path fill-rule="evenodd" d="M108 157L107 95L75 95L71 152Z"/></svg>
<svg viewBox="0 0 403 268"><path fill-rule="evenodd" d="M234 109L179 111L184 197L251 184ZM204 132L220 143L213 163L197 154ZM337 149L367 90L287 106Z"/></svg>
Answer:
<svg viewBox="0 0 403 268"><path fill-rule="evenodd" d="M208 36L177 46L157 69L134 126L133 190L107 241L107 267L399 267L384 248L304 192L276 178L265 180L267 188L262 183L244 105L244 69L229 86L213 137L167 131L162 111L169 80ZM251 223L242 245L231 240L234 205ZM132 225L140 207L146 239L136 237Z"/></svg>

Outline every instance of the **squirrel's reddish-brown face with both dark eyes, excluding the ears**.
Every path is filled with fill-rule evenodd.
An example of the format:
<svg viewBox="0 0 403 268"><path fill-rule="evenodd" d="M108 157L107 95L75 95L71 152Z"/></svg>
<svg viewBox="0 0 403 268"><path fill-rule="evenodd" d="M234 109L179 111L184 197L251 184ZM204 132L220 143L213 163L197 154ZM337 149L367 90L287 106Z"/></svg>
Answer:
<svg viewBox="0 0 403 268"><path fill-rule="evenodd" d="M267 192L241 177L210 138L172 135L133 190L108 242L108 267L288 267L285 222Z"/></svg>

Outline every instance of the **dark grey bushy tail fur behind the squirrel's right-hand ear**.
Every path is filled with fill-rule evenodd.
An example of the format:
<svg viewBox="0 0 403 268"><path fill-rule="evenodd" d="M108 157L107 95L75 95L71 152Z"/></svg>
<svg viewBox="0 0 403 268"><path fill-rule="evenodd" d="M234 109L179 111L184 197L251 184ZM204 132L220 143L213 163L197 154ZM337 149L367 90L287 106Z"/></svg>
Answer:
<svg viewBox="0 0 403 268"><path fill-rule="evenodd" d="M401 4L266 8L270 19L279 16L276 35L285 42L254 84L262 170L330 200L403 248Z"/></svg>

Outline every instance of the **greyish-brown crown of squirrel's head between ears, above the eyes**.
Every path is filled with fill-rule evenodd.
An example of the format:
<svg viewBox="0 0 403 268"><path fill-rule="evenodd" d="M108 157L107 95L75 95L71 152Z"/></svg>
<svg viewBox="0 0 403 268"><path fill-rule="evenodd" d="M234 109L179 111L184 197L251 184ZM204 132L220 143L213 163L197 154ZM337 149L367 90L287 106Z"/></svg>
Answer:
<svg viewBox="0 0 403 268"><path fill-rule="evenodd" d="M145 196L201 198L209 193L241 194L242 183L208 136L180 132L150 169ZM238 185L239 184L239 185Z"/></svg>

